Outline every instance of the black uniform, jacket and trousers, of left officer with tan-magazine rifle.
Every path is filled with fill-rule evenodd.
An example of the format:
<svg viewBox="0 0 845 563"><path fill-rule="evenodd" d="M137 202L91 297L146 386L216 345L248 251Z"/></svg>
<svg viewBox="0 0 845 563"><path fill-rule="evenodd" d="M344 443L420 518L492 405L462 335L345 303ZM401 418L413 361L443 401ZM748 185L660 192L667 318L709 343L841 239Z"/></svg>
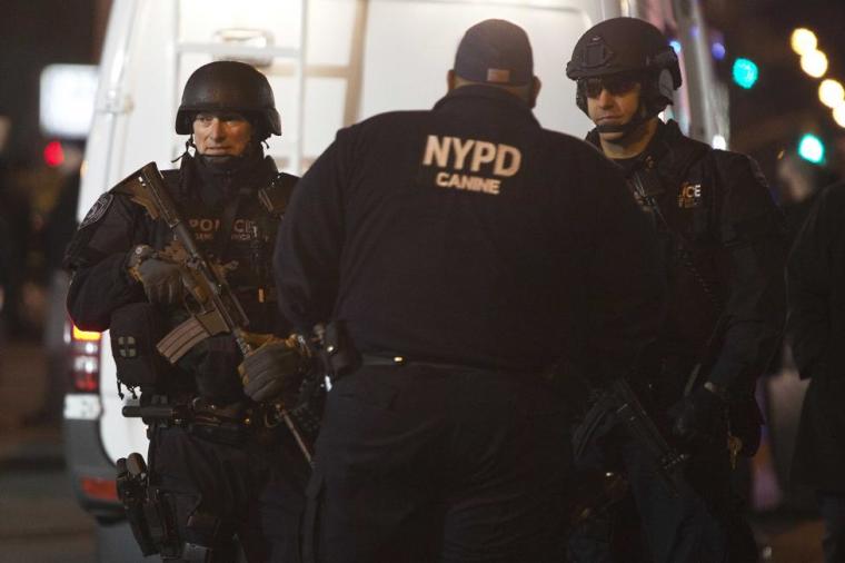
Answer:
<svg viewBox="0 0 845 563"><path fill-rule="evenodd" d="M215 172L186 155L180 170L163 174L200 248L233 268L227 279L246 309L249 329L284 335L288 327L276 303L259 297L259 288L271 294L271 243L261 246L262 240L275 239L278 218L257 198L258 188L284 175L269 157L255 157L251 166L239 170ZM235 209L228 221L223 219L227 208ZM221 223L231 224L230 233L218 238L216 233L225 228ZM151 220L141 206L122 195L103 195L68 250L67 265L73 270L68 309L74 323L106 330L116 312L146 302L141 284L127 273L128 251L140 244L162 249L172 239L167 225ZM162 309L162 314L173 312ZM212 337L180 362L176 376L145 389L141 404L149 404L155 395L155 401L169 405L188 405L197 397L216 405L243 405L247 399L237 374L240 360L231 336ZM157 423L148 433L151 484L172 498L168 502L177 513L179 541L211 546L222 556L215 561L225 561L233 557L225 550L237 533L249 561L297 561L307 466L292 441L284 435L268 438L258 431L230 441L216 428L203 435L199 425L192 428Z"/></svg>

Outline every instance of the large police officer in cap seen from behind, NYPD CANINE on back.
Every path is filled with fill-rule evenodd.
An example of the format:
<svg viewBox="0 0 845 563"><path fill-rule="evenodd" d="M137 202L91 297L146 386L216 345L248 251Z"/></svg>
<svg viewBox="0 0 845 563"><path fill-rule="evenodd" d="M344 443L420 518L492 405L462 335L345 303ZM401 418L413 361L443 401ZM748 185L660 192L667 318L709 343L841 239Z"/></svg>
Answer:
<svg viewBox="0 0 845 563"><path fill-rule="evenodd" d="M654 229L609 162L535 119L525 31L473 26L447 83L430 111L340 130L279 231L284 313L358 353L329 362L318 561L561 561L568 417L541 374L620 373L658 324Z"/></svg>

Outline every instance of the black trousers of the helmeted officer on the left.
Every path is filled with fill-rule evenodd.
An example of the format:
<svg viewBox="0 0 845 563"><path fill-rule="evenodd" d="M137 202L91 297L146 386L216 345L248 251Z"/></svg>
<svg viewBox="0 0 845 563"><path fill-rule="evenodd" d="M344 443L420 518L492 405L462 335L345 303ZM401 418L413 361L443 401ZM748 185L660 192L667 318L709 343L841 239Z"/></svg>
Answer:
<svg viewBox="0 0 845 563"><path fill-rule="evenodd" d="M152 484L171 510L179 542L250 563L297 563L309 468L287 435L227 445L181 427L158 428L149 450Z"/></svg>

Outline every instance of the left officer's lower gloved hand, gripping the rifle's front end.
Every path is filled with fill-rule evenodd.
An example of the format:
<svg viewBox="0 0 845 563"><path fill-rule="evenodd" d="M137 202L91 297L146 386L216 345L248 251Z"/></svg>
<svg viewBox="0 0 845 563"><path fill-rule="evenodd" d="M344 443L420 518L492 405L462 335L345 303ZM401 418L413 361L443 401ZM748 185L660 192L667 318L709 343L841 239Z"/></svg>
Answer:
<svg viewBox="0 0 845 563"><path fill-rule="evenodd" d="M308 358L294 338L271 339L247 355L238 368L243 393L257 403L281 399L292 405L307 365Z"/></svg>

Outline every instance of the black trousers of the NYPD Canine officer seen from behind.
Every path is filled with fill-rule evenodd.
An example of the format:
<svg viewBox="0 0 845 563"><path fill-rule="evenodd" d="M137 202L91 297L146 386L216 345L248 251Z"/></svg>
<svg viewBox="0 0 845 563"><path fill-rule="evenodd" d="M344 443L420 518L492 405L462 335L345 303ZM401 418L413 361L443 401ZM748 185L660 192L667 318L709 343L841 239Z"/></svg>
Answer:
<svg viewBox="0 0 845 563"><path fill-rule="evenodd" d="M560 563L566 423L535 376L360 368L328 395L306 561Z"/></svg>

